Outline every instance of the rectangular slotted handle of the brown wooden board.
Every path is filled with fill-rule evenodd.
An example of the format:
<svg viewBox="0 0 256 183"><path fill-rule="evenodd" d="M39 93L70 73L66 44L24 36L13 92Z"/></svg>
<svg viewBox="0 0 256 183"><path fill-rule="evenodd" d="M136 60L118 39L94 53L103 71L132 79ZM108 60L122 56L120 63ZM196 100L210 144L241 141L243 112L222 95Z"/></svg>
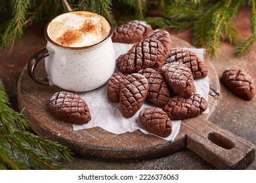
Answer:
<svg viewBox="0 0 256 183"><path fill-rule="evenodd" d="M244 169L255 159L255 146L198 116L183 120L186 146L217 169Z"/></svg>

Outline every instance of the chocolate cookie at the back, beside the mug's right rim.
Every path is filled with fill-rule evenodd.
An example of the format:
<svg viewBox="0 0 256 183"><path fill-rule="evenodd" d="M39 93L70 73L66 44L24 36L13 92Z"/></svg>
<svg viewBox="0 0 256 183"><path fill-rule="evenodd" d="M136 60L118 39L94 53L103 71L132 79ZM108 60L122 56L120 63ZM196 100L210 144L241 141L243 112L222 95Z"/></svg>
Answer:
<svg viewBox="0 0 256 183"><path fill-rule="evenodd" d="M135 43L140 42L152 33L153 29L144 21L131 20L125 24L119 25L114 29L112 35L113 42Z"/></svg>

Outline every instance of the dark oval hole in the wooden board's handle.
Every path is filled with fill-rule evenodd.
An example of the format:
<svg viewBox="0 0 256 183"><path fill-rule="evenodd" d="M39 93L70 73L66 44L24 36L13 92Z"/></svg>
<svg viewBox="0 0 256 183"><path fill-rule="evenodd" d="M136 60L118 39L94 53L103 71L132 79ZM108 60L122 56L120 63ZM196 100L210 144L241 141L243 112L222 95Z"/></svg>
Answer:
<svg viewBox="0 0 256 183"><path fill-rule="evenodd" d="M225 149L234 148L234 143L229 139L226 139L226 137L223 137L223 135L219 133L215 133L215 132L209 133L208 139L214 144L221 146L222 148L225 148Z"/></svg>

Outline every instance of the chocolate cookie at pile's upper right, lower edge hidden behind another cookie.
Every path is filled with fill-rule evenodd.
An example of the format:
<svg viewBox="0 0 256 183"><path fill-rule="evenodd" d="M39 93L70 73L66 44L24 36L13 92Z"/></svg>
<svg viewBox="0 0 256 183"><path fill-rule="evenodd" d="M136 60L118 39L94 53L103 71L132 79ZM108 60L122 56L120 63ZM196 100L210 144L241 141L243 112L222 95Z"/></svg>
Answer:
<svg viewBox="0 0 256 183"><path fill-rule="evenodd" d="M166 59L165 63L176 61L186 64L191 69L194 78L205 78L208 75L206 65L194 52L182 48L171 48L169 58Z"/></svg>

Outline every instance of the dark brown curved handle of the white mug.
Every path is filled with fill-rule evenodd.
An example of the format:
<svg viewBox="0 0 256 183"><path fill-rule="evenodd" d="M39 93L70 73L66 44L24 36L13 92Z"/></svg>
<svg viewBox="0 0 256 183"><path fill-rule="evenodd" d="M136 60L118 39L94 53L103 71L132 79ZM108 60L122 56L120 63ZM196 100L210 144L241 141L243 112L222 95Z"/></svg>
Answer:
<svg viewBox="0 0 256 183"><path fill-rule="evenodd" d="M32 78L32 80L38 84L43 84L43 85L51 85L51 80L49 80L48 77L45 78L39 78L37 76L35 76L35 67L37 66L37 63L39 63L39 61L41 61L41 59L46 58L50 55L49 50L47 50L47 48L42 48L41 50L39 50L38 52L36 52L32 58L30 59L30 61L28 62L28 75L30 76L30 78Z"/></svg>

